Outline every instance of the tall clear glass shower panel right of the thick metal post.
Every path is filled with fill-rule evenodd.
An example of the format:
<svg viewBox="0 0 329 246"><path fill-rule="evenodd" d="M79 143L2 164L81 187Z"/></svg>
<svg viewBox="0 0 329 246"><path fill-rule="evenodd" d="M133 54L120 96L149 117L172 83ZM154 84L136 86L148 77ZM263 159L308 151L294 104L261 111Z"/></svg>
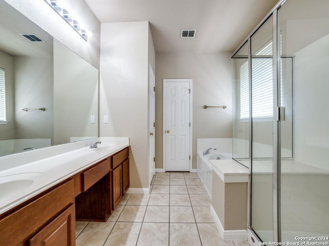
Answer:
<svg viewBox="0 0 329 246"><path fill-rule="evenodd" d="M327 0L288 0L279 9L278 96L281 98L278 103L285 112L279 132L281 241L299 245L305 241L305 245L329 241L328 10ZM294 87L291 87L292 78ZM293 99L294 107L291 107ZM293 116L294 131L289 126ZM290 147L290 138L294 139L294 149L292 144ZM283 154L292 150L293 158L285 158ZM298 240L298 237L314 238Z"/></svg>

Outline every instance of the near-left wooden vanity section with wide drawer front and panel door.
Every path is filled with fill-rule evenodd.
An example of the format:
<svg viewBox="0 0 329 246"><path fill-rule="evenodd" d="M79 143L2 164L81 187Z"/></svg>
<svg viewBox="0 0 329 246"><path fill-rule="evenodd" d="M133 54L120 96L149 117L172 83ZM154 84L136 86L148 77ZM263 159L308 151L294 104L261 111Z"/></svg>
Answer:
<svg viewBox="0 0 329 246"><path fill-rule="evenodd" d="M75 245L74 180L22 204L0 218L0 245Z"/></svg>

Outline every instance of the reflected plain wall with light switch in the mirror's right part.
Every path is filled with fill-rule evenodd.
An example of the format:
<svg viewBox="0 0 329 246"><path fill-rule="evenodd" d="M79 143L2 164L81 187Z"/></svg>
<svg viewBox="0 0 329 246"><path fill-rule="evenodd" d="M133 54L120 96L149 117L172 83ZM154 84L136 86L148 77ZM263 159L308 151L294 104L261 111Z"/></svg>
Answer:
<svg viewBox="0 0 329 246"><path fill-rule="evenodd" d="M98 137L98 70L54 39L53 71L52 144L66 144L70 137Z"/></svg>

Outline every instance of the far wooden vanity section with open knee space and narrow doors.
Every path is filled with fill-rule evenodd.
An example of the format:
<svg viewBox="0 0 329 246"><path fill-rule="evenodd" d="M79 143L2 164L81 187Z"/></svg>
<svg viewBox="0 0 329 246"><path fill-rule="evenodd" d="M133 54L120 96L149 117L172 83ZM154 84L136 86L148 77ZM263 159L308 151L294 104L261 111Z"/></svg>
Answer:
<svg viewBox="0 0 329 246"><path fill-rule="evenodd" d="M75 175L76 220L107 221L129 189L129 148Z"/></svg>

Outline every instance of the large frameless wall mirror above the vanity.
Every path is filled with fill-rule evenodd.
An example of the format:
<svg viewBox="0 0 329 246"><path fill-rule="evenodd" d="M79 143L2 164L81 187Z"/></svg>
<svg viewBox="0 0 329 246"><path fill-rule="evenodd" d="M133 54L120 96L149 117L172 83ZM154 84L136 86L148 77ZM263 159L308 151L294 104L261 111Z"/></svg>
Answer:
<svg viewBox="0 0 329 246"><path fill-rule="evenodd" d="M98 70L4 1L0 33L0 156L97 137Z"/></svg>

